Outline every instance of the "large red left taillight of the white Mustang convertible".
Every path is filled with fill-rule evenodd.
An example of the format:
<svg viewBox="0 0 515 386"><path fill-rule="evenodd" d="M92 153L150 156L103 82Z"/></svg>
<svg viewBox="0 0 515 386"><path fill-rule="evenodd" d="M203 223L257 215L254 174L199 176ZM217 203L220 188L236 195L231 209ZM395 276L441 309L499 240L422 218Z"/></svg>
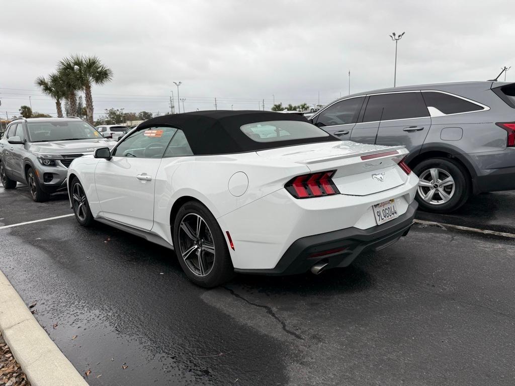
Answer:
<svg viewBox="0 0 515 386"><path fill-rule="evenodd" d="M284 187L295 198L311 198L339 195L340 192L331 178L336 170L302 174L289 180Z"/></svg>

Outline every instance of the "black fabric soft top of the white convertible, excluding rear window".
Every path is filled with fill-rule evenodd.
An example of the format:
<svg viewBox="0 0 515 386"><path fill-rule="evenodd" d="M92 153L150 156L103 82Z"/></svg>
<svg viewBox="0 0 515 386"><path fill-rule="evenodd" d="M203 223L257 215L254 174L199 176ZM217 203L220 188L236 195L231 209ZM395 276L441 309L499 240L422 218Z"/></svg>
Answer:
<svg viewBox="0 0 515 386"><path fill-rule="evenodd" d="M283 146L338 141L338 138L328 135L276 142L256 142L240 129L243 125L273 120L307 122L304 116L297 114L252 110L215 110L163 115L146 120L138 126L138 129L156 126L181 129L195 155L244 153Z"/></svg>

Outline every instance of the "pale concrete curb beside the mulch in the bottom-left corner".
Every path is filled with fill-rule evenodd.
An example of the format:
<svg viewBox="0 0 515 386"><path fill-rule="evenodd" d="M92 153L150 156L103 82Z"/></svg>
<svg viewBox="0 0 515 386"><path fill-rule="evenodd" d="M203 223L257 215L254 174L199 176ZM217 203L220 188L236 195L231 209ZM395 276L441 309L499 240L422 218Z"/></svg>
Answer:
<svg viewBox="0 0 515 386"><path fill-rule="evenodd" d="M0 330L32 386L88 386L0 271Z"/></svg>

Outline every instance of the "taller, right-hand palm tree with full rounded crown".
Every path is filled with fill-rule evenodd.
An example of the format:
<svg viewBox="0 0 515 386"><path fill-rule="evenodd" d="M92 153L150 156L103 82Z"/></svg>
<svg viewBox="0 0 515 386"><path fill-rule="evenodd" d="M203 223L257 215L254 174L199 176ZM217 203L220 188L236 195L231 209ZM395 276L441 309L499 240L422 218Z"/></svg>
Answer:
<svg viewBox="0 0 515 386"><path fill-rule="evenodd" d="M91 96L92 84L104 84L113 78L111 69L96 56L72 55L62 59L58 64L59 72L62 73L76 90L84 91L86 100L86 115L90 124L93 125L93 97ZM71 101L70 101L71 104ZM72 106L70 106L72 108ZM76 110L76 106L75 106ZM74 110L74 111L75 111Z"/></svg>

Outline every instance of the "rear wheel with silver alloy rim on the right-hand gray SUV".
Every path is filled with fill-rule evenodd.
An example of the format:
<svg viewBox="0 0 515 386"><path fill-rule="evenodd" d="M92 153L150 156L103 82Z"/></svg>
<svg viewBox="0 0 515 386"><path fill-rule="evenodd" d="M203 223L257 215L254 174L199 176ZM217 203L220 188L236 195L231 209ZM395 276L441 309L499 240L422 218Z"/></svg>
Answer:
<svg viewBox="0 0 515 386"><path fill-rule="evenodd" d="M450 213L470 197L472 184L468 173L451 159L428 159L416 165L413 171L419 177L416 199L422 210Z"/></svg>

